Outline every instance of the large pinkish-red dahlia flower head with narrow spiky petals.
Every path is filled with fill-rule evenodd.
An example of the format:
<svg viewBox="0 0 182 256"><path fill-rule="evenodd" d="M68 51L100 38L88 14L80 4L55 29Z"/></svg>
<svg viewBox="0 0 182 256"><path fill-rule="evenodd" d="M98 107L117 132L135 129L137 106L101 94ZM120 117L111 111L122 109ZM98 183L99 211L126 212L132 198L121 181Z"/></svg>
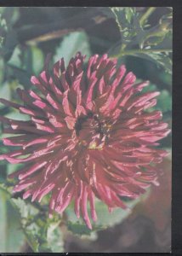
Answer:
<svg viewBox="0 0 182 256"><path fill-rule="evenodd" d="M61 59L51 73L31 77L36 91L17 90L23 105L0 100L30 116L1 117L4 132L16 135L3 138L4 145L19 148L0 160L26 163L10 175L19 179L14 192L32 201L50 192L50 215L74 201L77 218L91 229L88 201L95 221L95 197L110 210L125 208L123 196L135 199L157 184L154 164L167 153L156 146L169 130L160 111L146 111L159 95L140 93L148 82L135 84L134 73L107 55L90 57L87 67L83 61L77 53L67 68Z"/></svg>

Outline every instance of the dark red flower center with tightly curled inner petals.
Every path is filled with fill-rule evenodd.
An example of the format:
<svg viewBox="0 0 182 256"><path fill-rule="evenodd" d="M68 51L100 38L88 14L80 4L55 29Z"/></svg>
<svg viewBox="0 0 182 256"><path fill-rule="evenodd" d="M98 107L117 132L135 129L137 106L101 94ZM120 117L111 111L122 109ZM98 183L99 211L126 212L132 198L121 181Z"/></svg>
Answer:
<svg viewBox="0 0 182 256"><path fill-rule="evenodd" d="M75 131L82 146L89 149L102 149L107 143L111 125L98 114L88 113L77 119Z"/></svg>

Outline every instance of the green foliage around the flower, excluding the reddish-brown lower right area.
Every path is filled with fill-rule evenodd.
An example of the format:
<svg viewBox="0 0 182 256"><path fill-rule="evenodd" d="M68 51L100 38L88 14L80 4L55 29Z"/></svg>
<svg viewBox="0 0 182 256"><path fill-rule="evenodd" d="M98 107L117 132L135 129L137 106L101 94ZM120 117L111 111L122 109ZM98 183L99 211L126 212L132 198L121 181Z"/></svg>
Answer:
<svg viewBox="0 0 182 256"><path fill-rule="evenodd" d="M146 90L161 91L155 108L171 125L172 32L171 8L0 8L0 97L19 102L16 89L31 88L31 75L43 70L48 53L52 63L64 57L67 64L78 50L87 55L86 61L90 55L108 52L139 80L149 79ZM0 115L26 119L3 105ZM0 146L0 154L7 151L1 141ZM171 135L162 140L162 148L170 151ZM68 232L95 239L98 230L121 223L130 213L121 209L108 213L97 201L99 220L92 231L77 220L72 206L63 216L48 218L48 196L37 204L11 195L14 183L7 175L18 168L0 162L0 252L24 252L26 244L32 252L64 252ZM126 203L132 209L140 200L144 198Z"/></svg>

